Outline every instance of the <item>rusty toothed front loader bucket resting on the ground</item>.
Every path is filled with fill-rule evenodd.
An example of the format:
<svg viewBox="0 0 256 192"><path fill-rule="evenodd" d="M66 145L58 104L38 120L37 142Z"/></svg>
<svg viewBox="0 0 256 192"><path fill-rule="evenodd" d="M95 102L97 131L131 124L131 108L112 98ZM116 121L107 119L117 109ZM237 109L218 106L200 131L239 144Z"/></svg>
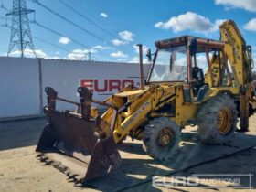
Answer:
<svg viewBox="0 0 256 192"><path fill-rule="evenodd" d="M96 136L96 121L90 119L91 92L80 88L80 103L57 97L58 93L52 88L46 88L46 92L48 107L44 112L48 124L36 149L40 160L79 181L104 176L117 169L121 165L121 156L112 135ZM56 100L78 105L81 113L56 111Z"/></svg>

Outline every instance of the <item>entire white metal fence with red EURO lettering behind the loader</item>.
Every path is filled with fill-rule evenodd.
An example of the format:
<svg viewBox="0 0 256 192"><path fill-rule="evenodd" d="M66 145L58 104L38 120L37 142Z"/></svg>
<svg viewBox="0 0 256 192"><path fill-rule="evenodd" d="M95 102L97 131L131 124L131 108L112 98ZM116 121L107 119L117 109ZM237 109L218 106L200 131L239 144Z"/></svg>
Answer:
<svg viewBox="0 0 256 192"><path fill-rule="evenodd" d="M149 69L144 65L144 76ZM79 101L77 88L87 86L93 97L104 100L128 83L138 85L139 66L132 63L73 61L61 59L0 58L0 121L42 116L45 87L59 96ZM58 102L59 110L73 106Z"/></svg>

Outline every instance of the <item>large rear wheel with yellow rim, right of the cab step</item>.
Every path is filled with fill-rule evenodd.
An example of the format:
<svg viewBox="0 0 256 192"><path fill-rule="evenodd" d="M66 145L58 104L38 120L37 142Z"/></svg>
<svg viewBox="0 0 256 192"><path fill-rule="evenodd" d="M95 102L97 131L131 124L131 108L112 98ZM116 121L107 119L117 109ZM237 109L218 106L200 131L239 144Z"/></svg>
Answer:
<svg viewBox="0 0 256 192"><path fill-rule="evenodd" d="M207 144L227 144L234 136L238 122L234 100L229 95L218 95L206 101L197 113L198 135Z"/></svg>

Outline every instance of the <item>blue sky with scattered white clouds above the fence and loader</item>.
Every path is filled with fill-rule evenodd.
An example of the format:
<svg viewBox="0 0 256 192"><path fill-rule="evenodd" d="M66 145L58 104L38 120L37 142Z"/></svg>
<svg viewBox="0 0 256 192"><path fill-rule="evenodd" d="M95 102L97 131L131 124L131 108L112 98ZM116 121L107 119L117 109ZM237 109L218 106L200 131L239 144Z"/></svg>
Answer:
<svg viewBox="0 0 256 192"><path fill-rule="evenodd" d="M2 0L0 0L1 2ZM219 39L219 24L232 19L240 27L256 58L256 0L27 0L34 9L29 20L38 57L137 61L135 44L155 50L158 39L193 35ZM0 55L6 55L10 28L0 9ZM11 16L7 20L11 26ZM43 27L42 27L43 26ZM48 27L48 29L44 28ZM52 30L52 31L50 31ZM58 32L55 33L55 32ZM42 41L43 40L43 41ZM12 56L17 56L14 49ZM27 56L31 51L27 50Z"/></svg>

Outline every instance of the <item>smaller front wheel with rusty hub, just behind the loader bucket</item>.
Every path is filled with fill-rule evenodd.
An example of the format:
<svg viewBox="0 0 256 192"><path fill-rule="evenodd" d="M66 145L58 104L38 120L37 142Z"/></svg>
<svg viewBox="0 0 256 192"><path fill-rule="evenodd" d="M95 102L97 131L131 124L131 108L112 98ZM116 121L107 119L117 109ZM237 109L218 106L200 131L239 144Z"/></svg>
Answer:
<svg viewBox="0 0 256 192"><path fill-rule="evenodd" d="M145 126L144 151L155 159L168 159L176 153L180 134L179 126L173 120L155 118Z"/></svg>

